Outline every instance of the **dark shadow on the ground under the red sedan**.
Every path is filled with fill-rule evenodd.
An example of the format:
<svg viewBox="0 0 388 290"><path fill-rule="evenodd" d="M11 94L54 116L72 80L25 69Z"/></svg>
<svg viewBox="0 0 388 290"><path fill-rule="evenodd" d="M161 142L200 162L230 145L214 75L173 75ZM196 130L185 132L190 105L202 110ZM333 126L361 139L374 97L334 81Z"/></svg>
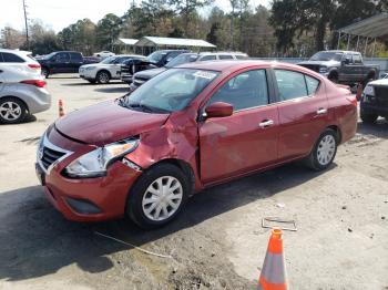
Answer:
<svg viewBox="0 0 388 290"><path fill-rule="evenodd" d="M334 164L329 169L335 167ZM140 229L127 219L98 224L68 221L43 197L40 186L2 193L0 279L18 281L42 277L72 263L86 272L103 272L114 267L106 255L131 247L98 236L95 231L140 247L249 203L274 196L320 174L294 163L208 188L194 195L175 220L151 231ZM176 240L171 247L178 247L178 242L184 241ZM136 267L131 266L135 263L131 259L127 263L130 268Z"/></svg>

